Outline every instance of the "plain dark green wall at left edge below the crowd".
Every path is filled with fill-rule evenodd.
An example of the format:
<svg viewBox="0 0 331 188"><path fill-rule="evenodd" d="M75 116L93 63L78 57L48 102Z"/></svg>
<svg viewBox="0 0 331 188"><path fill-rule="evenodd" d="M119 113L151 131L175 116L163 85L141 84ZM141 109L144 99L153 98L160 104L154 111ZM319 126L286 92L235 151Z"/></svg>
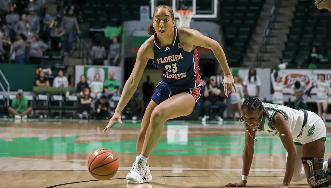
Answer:
<svg viewBox="0 0 331 188"><path fill-rule="evenodd" d="M0 64L0 70L9 82L10 91L17 91L18 89L32 91L36 80L36 65ZM7 84L2 76L0 76L0 82L7 90Z"/></svg>

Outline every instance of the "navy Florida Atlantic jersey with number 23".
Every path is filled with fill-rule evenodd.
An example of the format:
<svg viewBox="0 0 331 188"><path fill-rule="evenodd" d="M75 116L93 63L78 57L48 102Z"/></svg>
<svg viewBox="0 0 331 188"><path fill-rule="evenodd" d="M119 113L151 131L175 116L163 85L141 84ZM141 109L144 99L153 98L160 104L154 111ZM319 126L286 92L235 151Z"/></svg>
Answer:
<svg viewBox="0 0 331 188"><path fill-rule="evenodd" d="M198 49L185 52L179 41L177 27L174 27L172 44L161 47L154 34L153 65L162 71L162 82L170 90L187 90L200 86Z"/></svg>

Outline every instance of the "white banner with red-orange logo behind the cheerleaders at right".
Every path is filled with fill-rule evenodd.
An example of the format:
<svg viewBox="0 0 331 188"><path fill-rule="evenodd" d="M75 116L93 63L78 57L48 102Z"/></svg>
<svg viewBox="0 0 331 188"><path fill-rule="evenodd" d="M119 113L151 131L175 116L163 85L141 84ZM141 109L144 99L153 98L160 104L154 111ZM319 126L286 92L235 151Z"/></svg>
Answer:
<svg viewBox="0 0 331 188"><path fill-rule="evenodd" d="M311 94L316 94L317 84L315 81L318 80L319 74L324 74L325 82L329 83L329 85L331 86L331 70L327 69L315 69L313 71L311 69L285 69L278 71L278 74L281 77L285 76L283 89L284 94L291 94L291 86L296 81L301 81L305 83L308 88L313 86Z"/></svg>

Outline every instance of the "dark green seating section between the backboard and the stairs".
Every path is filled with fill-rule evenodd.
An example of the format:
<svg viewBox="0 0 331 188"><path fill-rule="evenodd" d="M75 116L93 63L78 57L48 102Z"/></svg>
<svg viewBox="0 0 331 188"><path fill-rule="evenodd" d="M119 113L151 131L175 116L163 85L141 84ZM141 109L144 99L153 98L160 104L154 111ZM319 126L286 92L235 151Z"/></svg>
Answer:
<svg viewBox="0 0 331 188"><path fill-rule="evenodd" d="M219 0L219 3L219 20L224 29L227 61L230 66L240 66L264 0Z"/></svg>

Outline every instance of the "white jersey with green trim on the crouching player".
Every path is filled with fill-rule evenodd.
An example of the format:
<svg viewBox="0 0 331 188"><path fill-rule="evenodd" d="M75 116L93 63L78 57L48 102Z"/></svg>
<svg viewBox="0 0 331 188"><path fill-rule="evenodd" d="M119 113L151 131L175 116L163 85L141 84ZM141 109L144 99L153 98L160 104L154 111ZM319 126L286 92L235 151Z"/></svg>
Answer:
<svg viewBox="0 0 331 188"><path fill-rule="evenodd" d="M299 135L299 133L302 129L303 121L304 121L304 112L303 111L295 110L295 109L292 109L290 107L283 106L280 104L270 104L270 103L265 103L265 102L262 102L262 104L264 107L270 107L270 108L274 108L279 111L282 111L286 116L287 126L290 129L292 137L297 137ZM273 115L277 111L266 109L265 112L272 120ZM268 118L265 117L265 115L263 115L263 118L262 118L262 132L264 132L268 135L271 135L271 136L278 135L277 132L271 127L270 122L269 122ZM280 132L280 133L283 133L283 132Z"/></svg>

